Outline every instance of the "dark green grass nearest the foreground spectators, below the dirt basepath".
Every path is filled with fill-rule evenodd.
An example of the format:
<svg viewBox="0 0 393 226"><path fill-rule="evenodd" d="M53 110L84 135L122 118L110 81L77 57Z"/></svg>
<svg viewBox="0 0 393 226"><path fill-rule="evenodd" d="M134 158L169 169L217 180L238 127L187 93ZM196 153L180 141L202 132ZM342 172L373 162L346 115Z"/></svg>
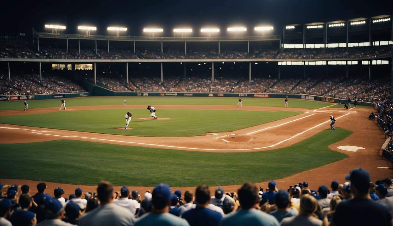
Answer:
<svg viewBox="0 0 393 226"><path fill-rule="evenodd" d="M2 178L95 185L230 185L294 175L347 157L330 144L351 131L324 130L287 148L248 153L207 153L56 140L0 144Z"/></svg>

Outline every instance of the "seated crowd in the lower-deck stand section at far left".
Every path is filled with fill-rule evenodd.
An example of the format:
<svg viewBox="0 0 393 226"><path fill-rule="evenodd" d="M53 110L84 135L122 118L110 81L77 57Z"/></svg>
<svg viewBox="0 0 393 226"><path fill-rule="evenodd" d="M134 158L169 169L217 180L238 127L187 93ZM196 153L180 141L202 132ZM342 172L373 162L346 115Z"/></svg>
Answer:
<svg viewBox="0 0 393 226"><path fill-rule="evenodd" d="M11 85L8 76L1 74L0 95L31 95L52 93L80 93L86 92L83 87L63 77L24 74L12 76Z"/></svg>

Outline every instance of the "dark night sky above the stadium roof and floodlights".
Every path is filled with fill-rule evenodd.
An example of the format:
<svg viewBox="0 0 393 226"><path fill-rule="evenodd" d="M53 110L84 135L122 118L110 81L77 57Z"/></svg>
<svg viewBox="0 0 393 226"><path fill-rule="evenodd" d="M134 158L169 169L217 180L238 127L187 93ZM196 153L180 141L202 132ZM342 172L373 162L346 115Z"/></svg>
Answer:
<svg viewBox="0 0 393 226"><path fill-rule="evenodd" d="M326 22L356 17L392 14L391 0L138 0L138 1L73 1L5 0L0 12L1 33L31 33L31 27L44 32L44 24L66 24L62 33L80 33L81 24L97 26L92 34L107 35L107 26L128 27L127 35L143 35L146 26L159 26L164 36L172 36L172 29L190 26L193 36L202 26L219 26L221 35L226 27L241 24L253 27L271 24L275 34L282 24ZM50 32L50 31L48 31Z"/></svg>

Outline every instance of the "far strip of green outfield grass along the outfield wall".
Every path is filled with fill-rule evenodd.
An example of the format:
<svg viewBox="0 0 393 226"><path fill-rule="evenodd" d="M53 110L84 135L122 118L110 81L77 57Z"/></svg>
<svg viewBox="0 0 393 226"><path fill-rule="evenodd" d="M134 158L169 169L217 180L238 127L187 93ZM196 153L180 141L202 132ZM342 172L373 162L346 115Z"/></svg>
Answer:
<svg viewBox="0 0 393 226"><path fill-rule="evenodd" d="M92 106L92 105L121 105L123 100L127 105L151 104L151 105L236 105L238 98L235 97L81 97L66 98L66 106ZM284 98L242 98L243 106L272 106L284 107ZM29 108L60 107L60 99L28 100ZM303 99L289 99L290 108L316 109L329 106L332 103L317 102ZM23 109L23 101L0 102L0 110Z"/></svg>

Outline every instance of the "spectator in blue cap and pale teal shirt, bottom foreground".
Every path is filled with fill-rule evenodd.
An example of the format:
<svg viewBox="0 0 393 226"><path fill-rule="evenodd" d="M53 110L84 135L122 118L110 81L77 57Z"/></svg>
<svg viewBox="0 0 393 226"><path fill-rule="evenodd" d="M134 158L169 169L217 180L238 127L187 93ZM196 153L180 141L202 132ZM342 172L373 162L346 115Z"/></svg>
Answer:
<svg viewBox="0 0 393 226"><path fill-rule="evenodd" d="M187 226L187 221L169 213L171 205L171 189L168 184L158 184L152 193L152 211L143 214L135 222L135 226Z"/></svg>

